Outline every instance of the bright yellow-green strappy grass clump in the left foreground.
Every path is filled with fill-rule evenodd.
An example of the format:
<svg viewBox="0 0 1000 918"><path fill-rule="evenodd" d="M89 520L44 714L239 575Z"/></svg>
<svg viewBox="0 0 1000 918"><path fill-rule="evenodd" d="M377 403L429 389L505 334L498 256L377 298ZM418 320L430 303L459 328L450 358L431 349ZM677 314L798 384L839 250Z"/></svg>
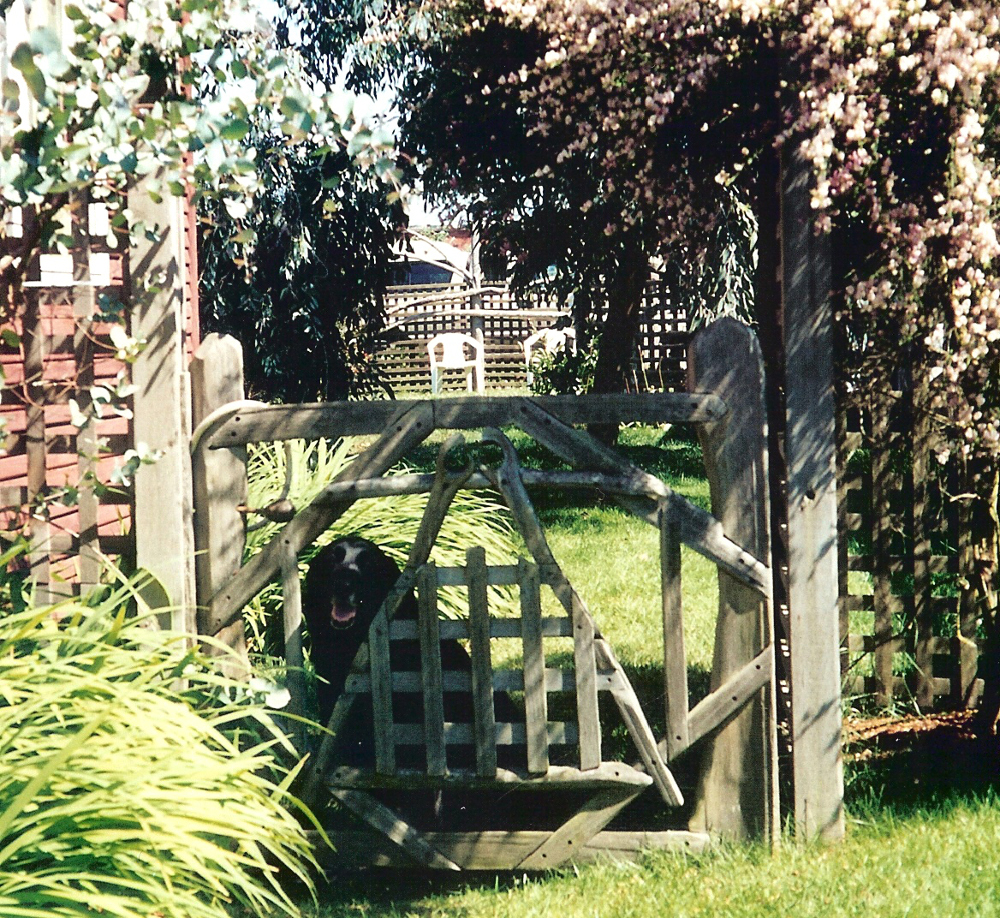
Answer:
<svg viewBox="0 0 1000 918"><path fill-rule="evenodd" d="M297 914L294 770L245 686L127 591L0 618L0 914Z"/></svg>

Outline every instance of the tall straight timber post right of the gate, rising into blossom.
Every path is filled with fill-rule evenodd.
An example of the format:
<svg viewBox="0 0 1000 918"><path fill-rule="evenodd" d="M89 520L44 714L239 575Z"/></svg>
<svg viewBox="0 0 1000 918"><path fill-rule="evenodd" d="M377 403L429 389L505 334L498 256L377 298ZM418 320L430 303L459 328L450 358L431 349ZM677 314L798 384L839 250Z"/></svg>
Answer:
<svg viewBox="0 0 1000 918"><path fill-rule="evenodd" d="M830 247L815 232L809 164L790 146L781 156L781 308L795 832L833 841L844 834L844 775Z"/></svg>

